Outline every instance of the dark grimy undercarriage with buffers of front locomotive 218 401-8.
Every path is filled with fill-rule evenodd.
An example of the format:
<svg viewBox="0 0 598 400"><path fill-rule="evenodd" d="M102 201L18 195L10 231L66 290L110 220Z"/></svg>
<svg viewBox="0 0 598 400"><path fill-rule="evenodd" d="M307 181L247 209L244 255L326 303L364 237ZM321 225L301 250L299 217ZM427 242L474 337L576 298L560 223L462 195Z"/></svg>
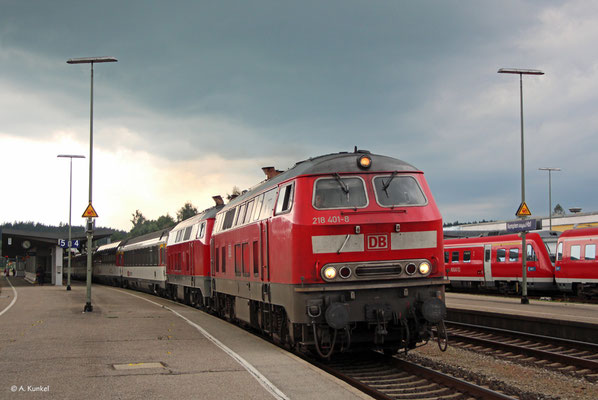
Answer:
<svg viewBox="0 0 598 400"><path fill-rule="evenodd" d="M340 291L267 284L252 291L258 299L222 293L223 282L215 286L211 308L218 315L322 358L360 347L407 351L429 340L445 316L444 281Z"/></svg>

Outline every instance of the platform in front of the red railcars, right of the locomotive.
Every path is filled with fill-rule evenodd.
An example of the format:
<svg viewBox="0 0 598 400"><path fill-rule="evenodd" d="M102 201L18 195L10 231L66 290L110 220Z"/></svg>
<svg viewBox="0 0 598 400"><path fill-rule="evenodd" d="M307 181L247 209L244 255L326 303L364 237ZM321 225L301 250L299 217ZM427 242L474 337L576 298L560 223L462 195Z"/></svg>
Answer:
<svg viewBox="0 0 598 400"><path fill-rule="evenodd" d="M598 304L446 293L447 321L598 343Z"/></svg>

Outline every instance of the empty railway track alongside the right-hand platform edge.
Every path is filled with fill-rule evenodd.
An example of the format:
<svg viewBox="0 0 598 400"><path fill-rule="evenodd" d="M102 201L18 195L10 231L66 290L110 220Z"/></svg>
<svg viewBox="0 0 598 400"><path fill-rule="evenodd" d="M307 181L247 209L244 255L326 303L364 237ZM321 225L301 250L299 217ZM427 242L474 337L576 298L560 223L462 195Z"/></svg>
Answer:
<svg viewBox="0 0 598 400"><path fill-rule="evenodd" d="M451 346L598 382L597 344L458 322L446 326Z"/></svg>

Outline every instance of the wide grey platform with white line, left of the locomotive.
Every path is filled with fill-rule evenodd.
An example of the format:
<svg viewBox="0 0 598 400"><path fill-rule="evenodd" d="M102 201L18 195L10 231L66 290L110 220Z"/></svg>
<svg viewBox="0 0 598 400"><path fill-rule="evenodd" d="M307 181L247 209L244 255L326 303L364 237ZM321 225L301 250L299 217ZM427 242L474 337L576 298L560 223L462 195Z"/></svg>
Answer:
<svg viewBox="0 0 598 400"><path fill-rule="evenodd" d="M0 277L0 398L369 399L197 309L139 292Z"/></svg>

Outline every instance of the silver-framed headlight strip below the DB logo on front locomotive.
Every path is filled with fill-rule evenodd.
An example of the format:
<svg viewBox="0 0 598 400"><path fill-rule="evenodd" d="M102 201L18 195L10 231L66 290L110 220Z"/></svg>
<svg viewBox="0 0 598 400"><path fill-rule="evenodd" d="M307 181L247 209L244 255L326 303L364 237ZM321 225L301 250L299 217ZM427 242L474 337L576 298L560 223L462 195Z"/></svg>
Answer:
<svg viewBox="0 0 598 400"><path fill-rule="evenodd" d="M430 275L428 260L378 261L368 263L333 263L321 269L327 282L347 282L373 279L422 278Z"/></svg>

